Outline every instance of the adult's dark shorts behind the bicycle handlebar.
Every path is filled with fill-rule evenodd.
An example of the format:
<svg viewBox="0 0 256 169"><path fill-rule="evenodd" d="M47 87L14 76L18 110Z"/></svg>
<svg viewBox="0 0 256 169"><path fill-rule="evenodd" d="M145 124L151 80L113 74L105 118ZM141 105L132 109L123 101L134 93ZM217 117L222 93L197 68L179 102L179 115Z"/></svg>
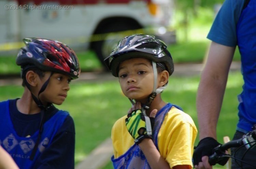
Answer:
<svg viewBox="0 0 256 169"><path fill-rule="evenodd" d="M233 140L242 138L244 134L245 133L243 132L236 131L236 133L234 134ZM256 147L248 150L247 152L246 152L247 149L244 146L240 148L238 151L237 150L238 148L231 148L231 155L233 157L240 160L242 159L243 161L256 166ZM232 165L231 165L232 169L256 169L256 167L250 166L245 163L241 163L238 160L235 161L234 159L231 159L231 162L232 162Z"/></svg>

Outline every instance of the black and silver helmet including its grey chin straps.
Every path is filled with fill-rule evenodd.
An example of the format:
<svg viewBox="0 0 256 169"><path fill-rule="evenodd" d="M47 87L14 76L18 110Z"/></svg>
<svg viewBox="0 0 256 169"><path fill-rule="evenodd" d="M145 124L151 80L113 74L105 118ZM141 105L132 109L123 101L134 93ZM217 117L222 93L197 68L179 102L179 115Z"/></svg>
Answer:
<svg viewBox="0 0 256 169"><path fill-rule="evenodd" d="M167 46L161 40L151 35L135 34L126 36L119 41L116 48L110 56L104 60L113 76L118 77L119 64L131 58L146 58L152 61L154 72L154 87L152 93L148 96L146 103L142 104L142 113L146 121L146 130L149 135L152 134L150 118L146 115L145 110L150 109L151 103L157 94L161 93L166 85L157 88L157 67L156 64L163 63L165 70L169 72L169 76L173 73L174 66L172 56L167 50ZM129 98L132 104L134 100Z"/></svg>

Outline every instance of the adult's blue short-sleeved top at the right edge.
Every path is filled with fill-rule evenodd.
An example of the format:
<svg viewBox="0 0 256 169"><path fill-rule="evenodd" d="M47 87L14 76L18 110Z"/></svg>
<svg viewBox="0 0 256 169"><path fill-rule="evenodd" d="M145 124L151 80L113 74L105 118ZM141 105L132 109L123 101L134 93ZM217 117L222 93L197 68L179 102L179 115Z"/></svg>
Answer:
<svg viewBox="0 0 256 169"><path fill-rule="evenodd" d="M242 93L238 95L237 130L245 133L256 124L255 11L256 1L226 0L207 36L216 43L239 48L244 85Z"/></svg>

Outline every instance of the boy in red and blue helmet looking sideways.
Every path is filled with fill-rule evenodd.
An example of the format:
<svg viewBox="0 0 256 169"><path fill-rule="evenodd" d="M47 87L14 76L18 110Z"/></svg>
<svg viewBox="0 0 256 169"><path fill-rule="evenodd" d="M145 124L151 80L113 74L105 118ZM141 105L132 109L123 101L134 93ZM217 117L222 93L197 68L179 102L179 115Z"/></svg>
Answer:
<svg viewBox="0 0 256 169"><path fill-rule="evenodd" d="M78 78L77 56L65 44L28 38L16 63L22 68L21 98L0 102L0 144L19 168L74 168L75 129L67 111L58 110Z"/></svg>

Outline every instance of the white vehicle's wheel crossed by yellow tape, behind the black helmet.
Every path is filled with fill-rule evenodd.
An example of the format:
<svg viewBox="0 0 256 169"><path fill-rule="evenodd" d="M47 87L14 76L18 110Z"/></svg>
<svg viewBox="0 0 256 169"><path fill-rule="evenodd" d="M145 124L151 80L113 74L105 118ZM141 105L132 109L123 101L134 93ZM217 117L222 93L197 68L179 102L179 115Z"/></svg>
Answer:
<svg viewBox="0 0 256 169"><path fill-rule="evenodd" d="M102 40L93 42L92 48L103 66L103 71L109 71L104 63L104 59L110 55L118 41L125 36L133 34L132 32L127 32L128 30L136 30L139 28L139 25L119 22L110 24L97 33L102 34L102 36L100 36Z"/></svg>

